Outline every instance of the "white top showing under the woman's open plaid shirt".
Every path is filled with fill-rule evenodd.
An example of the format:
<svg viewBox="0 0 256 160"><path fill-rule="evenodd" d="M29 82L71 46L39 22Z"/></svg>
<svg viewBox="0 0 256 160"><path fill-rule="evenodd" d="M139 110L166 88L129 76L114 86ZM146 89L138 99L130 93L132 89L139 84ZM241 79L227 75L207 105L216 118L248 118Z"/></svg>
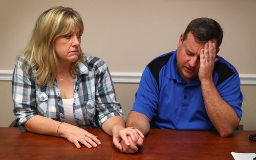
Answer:
<svg viewBox="0 0 256 160"><path fill-rule="evenodd" d="M65 114L65 122L78 126L75 121L74 112L73 112L74 98L62 99L62 102L63 102L63 108L64 108L64 114Z"/></svg>

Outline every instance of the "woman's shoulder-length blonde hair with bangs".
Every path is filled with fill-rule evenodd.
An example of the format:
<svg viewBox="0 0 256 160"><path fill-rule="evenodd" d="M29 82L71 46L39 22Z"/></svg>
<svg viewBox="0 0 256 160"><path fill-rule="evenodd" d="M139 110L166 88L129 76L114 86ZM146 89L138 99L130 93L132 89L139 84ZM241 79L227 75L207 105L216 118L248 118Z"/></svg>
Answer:
<svg viewBox="0 0 256 160"><path fill-rule="evenodd" d="M28 64L30 76L38 86L45 86L49 82L52 87L57 75L57 57L54 51L56 37L70 34L74 29L83 33L83 22L78 12L67 7L52 7L43 12L36 20L30 41L27 47L20 53L25 56L22 69ZM78 73L77 65L83 60L81 48L79 48L78 61L70 67L70 75L74 78Z"/></svg>

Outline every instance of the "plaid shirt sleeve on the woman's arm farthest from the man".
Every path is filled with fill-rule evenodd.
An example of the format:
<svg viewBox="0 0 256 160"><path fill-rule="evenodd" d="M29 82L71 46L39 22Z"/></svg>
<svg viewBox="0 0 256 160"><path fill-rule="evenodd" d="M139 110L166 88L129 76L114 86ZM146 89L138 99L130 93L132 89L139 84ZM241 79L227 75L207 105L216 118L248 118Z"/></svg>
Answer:
<svg viewBox="0 0 256 160"><path fill-rule="evenodd" d="M12 97L14 103L13 113L16 116L18 127L22 131L27 129L24 123L34 115L37 115L35 109L35 83L31 80L28 73L23 71L20 65L23 59L18 58L12 76ZM25 66L25 68L28 68Z"/></svg>

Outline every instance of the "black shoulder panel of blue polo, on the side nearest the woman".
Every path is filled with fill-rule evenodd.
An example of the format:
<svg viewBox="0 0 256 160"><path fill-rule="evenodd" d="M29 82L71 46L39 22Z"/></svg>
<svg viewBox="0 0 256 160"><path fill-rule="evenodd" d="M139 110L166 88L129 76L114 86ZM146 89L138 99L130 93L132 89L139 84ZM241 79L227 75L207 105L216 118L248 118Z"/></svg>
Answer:
<svg viewBox="0 0 256 160"><path fill-rule="evenodd" d="M159 57L155 60L153 60L150 64L148 64L148 68L150 68L151 73L153 74L153 76L156 79L157 85L159 86L159 72L160 70L163 68L163 66L168 62L168 60L170 59L170 57L173 54L167 54L165 56Z"/></svg>

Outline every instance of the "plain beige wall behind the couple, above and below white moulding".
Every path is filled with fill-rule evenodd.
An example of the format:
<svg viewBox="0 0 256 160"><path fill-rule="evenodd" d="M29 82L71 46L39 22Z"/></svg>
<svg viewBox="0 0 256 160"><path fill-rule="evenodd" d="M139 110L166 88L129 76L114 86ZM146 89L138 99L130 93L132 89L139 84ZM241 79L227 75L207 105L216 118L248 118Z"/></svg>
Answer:
<svg viewBox="0 0 256 160"><path fill-rule="evenodd" d="M188 22L216 19L224 29L219 55L240 74L256 74L256 1L254 0L0 0L0 72L12 70L29 39L36 18L52 6L77 10L85 24L82 49L100 57L111 72L142 72L153 58L175 50ZM138 84L115 84L125 118ZM0 82L0 127L14 119L11 82ZM244 129L256 130L256 86L242 86Z"/></svg>

